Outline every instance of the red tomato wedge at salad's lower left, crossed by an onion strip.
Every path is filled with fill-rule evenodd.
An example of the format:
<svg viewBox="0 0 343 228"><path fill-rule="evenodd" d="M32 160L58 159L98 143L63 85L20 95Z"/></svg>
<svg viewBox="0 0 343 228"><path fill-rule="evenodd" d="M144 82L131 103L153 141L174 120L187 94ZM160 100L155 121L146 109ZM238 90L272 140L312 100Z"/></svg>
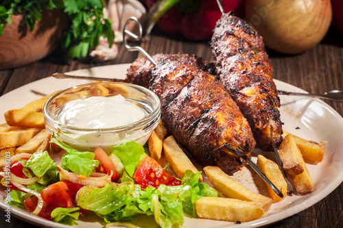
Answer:
<svg viewBox="0 0 343 228"><path fill-rule="evenodd" d="M46 219L51 219L51 212L57 207L74 207L73 201L69 195L69 189L66 183L59 181L47 186L40 193L44 203L43 208L38 216ZM27 210L33 212L38 203L37 197L31 197L24 201Z"/></svg>

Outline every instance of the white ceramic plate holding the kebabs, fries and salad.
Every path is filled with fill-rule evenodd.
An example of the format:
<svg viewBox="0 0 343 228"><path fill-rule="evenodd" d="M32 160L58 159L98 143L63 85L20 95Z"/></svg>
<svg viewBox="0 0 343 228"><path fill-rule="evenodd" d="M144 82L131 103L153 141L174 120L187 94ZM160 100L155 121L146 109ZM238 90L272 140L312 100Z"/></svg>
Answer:
<svg viewBox="0 0 343 228"><path fill-rule="evenodd" d="M125 78L126 69L129 64L120 64L114 66L100 66L88 70L74 71L73 75L91 75L94 77L116 77ZM62 90L75 86L77 84L84 84L90 81L80 79L55 79L54 77L47 77L34 81L31 84L12 90L0 97L0 113L7 110L21 108L29 101L38 99L41 94L50 94L56 90ZM286 90L292 92L304 92L299 88L285 84L282 81L276 81L276 86L279 90ZM327 153L324 160L319 164L307 164L309 173L314 181L316 190L309 194L300 195L294 194L292 197L286 197L280 203L274 203L268 213L263 218L251 221L249 223L228 223L223 221L204 220L200 218L185 218L184 227L261 227L270 225L278 220L287 218L298 212L311 207L330 192L335 190L343 181L343 118L335 112L329 105L320 101L319 99L309 99L301 97L281 96L281 118L285 123L284 129L296 136L308 140L320 142L328 141L326 144ZM3 115L0 116L0 123L4 123ZM260 151L255 151L255 154ZM267 157L272 157L272 153L267 153ZM252 157L256 162L256 156ZM330 175L328 175L330 174ZM244 186L261 192L258 186L264 186L261 180L250 168L244 168L233 176L236 181L244 184ZM5 210L5 203L3 203L5 192L0 191L0 207ZM12 207L12 216L21 218L42 227L69 227L59 223L53 223L49 220L33 216L24 210L19 210ZM134 222L139 227L156 227L153 221L153 216L147 218L146 216L135 218ZM85 216L79 220L79 226L74 227L104 227L102 219L96 216Z"/></svg>

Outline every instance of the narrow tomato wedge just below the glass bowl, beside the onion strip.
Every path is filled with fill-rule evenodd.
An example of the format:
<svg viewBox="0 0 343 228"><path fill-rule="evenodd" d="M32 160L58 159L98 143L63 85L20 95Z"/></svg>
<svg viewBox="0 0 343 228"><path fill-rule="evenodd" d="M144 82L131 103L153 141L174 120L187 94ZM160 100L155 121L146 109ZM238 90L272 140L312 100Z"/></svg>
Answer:
<svg viewBox="0 0 343 228"><path fill-rule="evenodd" d="M110 171L113 171L111 180L117 181L117 179L119 179L119 173L115 169L115 164L112 162L110 157L108 157L107 153L103 149L98 147L97 149L95 149L94 154L95 154L94 159L99 160L99 163L100 163L98 170L108 175L110 175ZM104 168L104 172L102 171L102 168Z"/></svg>

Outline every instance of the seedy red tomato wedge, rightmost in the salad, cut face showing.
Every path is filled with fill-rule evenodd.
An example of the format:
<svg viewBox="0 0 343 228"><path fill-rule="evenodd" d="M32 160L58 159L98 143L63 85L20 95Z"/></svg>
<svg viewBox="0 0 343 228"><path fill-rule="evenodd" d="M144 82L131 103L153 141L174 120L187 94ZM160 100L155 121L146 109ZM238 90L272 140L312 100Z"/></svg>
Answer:
<svg viewBox="0 0 343 228"><path fill-rule="evenodd" d="M181 181L166 173L156 160L146 156L133 175L134 180L141 184L142 188L154 186L158 188L160 184L166 186L179 186Z"/></svg>

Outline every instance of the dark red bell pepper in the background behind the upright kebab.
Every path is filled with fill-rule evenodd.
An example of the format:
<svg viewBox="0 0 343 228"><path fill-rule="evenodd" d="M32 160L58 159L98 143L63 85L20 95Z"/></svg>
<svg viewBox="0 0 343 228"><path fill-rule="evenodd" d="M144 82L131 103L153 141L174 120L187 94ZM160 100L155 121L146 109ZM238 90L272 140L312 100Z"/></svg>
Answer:
<svg viewBox="0 0 343 228"><path fill-rule="evenodd" d="M143 0L150 10L158 0ZM213 34L215 23L222 16L216 0L180 0L165 12L156 22L156 27L168 34L182 34L191 40L208 40ZM236 11L237 16L244 14L244 0L222 1L225 12Z"/></svg>

